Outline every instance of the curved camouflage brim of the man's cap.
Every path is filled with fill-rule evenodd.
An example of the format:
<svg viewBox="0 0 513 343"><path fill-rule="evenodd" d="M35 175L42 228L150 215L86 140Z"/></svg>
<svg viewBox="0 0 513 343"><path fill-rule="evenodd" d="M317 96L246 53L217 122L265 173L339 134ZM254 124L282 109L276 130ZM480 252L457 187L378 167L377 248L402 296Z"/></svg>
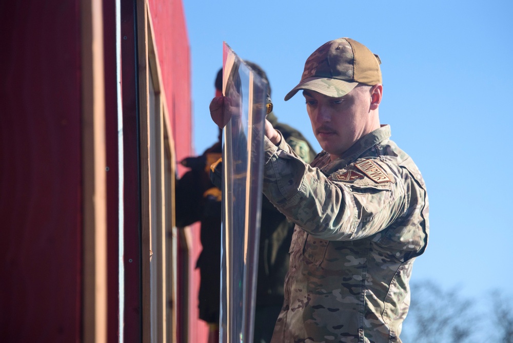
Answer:
<svg viewBox="0 0 513 343"><path fill-rule="evenodd" d="M300 89L309 89L324 94L327 97L340 98L345 96L358 82L347 82L338 79L308 78L301 81L285 96L285 101L292 98Z"/></svg>

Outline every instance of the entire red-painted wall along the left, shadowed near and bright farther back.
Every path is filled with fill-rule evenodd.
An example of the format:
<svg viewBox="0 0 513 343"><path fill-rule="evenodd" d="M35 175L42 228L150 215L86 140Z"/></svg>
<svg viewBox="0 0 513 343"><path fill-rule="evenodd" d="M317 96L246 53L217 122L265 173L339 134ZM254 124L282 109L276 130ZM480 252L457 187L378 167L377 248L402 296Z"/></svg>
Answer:
<svg viewBox="0 0 513 343"><path fill-rule="evenodd" d="M122 50L126 44L134 46L133 4L122 2L122 36L127 36ZM151 0L150 11L180 161L192 154L190 56L182 3ZM117 106L123 107L125 152L137 150L135 54L122 56L133 80L123 79L123 103L117 104L113 20L113 2L104 1L108 341L118 334ZM82 339L80 23L79 0L0 2L0 341ZM122 70L122 75L127 74ZM140 213L130 212L139 204L137 161L126 158L124 168L125 236L137 237ZM199 237L198 230L193 234ZM199 252L198 237L191 268ZM140 254L136 239L128 244L133 247L125 246L125 257ZM140 265L125 266L125 338L130 341L141 335ZM192 287L197 288L194 275ZM197 291L192 291L191 300L196 299ZM204 342L206 327L197 318L191 314L189 341Z"/></svg>

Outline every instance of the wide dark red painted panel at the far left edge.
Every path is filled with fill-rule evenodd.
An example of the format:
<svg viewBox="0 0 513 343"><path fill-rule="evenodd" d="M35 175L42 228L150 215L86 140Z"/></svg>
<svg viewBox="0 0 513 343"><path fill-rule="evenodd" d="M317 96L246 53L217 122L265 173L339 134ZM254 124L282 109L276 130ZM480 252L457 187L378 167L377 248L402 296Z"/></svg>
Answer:
<svg viewBox="0 0 513 343"><path fill-rule="evenodd" d="M0 2L0 340L81 338L78 0Z"/></svg>

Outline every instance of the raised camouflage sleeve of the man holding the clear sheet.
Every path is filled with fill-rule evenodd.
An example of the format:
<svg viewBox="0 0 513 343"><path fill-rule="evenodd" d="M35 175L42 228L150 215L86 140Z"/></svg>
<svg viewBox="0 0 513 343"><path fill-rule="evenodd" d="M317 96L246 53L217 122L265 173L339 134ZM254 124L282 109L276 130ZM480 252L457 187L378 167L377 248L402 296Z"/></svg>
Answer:
<svg viewBox="0 0 513 343"><path fill-rule="evenodd" d="M360 173L358 182L338 181L264 141L264 194L291 221L312 236L356 240L374 235L405 208L400 170L386 169L389 182ZM342 179L342 177L341 177Z"/></svg>

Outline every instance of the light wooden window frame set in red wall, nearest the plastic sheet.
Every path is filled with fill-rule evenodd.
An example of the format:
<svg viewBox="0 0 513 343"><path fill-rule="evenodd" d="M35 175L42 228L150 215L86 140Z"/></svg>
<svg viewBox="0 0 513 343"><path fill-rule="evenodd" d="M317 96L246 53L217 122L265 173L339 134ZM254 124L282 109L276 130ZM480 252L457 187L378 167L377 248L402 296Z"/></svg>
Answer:
<svg viewBox="0 0 513 343"><path fill-rule="evenodd" d="M174 146L146 1L137 3L137 13L143 218L142 336L143 341L174 342L177 341Z"/></svg>

